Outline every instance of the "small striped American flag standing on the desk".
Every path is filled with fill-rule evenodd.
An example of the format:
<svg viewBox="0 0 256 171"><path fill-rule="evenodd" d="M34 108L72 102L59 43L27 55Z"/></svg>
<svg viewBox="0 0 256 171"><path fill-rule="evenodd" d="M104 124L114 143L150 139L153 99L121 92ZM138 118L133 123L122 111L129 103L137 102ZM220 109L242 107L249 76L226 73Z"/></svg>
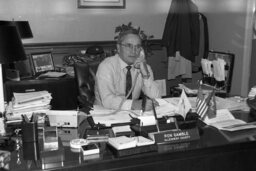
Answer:
<svg viewBox="0 0 256 171"><path fill-rule="evenodd" d="M197 94L197 99L196 99L196 113L200 116L203 117L206 112L208 111L208 104L206 102L206 99L203 95L203 90L201 84L199 85L198 88L198 94Z"/></svg>

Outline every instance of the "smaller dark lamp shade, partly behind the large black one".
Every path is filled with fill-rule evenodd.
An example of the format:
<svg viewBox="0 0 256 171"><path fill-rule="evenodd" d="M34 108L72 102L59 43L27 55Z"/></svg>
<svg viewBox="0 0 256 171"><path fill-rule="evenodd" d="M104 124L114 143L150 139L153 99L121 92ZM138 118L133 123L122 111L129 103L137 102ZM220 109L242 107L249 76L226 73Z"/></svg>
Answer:
<svg viewBox="0 0 256 171"><path fill-rule="evenodd" d="M15 21L15 25L22 39L33 38L28 21Z"/></svg>

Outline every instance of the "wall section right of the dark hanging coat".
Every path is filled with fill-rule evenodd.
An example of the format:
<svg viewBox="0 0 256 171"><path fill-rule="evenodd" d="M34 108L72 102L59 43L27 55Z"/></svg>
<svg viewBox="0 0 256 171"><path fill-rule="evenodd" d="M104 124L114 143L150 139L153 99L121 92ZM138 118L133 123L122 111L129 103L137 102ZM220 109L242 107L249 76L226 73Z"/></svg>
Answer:
<svg viewBox="0 0 256 171"><path fill-rule="evenodd" d="M254 1L254 0L253 0ZM208 20L210 49L235 54L231 94L247 96L250 34L247 18L253 10L251 0L199 1L200 11Z"/></svg>

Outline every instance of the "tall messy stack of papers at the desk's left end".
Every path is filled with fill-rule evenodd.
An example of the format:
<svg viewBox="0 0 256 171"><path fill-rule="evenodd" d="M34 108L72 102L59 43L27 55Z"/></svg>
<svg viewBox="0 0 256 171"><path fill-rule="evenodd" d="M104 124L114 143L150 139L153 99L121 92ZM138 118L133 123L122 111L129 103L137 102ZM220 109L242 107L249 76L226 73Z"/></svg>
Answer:
<svg viewBox="0 0 256 171"><path fill-rule="evenodd" d="M13 93L13 100L7 107L7 120L19 120L21 115L31 117L34 112L50 109L52 96L48 91Z"/></svg>

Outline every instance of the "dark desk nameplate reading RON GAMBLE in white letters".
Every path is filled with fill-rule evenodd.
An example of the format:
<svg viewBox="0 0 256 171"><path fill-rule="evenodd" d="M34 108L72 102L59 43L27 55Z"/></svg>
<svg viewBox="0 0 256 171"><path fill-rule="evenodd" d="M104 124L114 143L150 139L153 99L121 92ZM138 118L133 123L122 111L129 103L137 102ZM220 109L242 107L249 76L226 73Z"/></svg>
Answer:
<svg viewBox="0 0 256 171"><path fill-rule="evenodd" d="M185 130L167 130L149 133L148 136L157 144L180 143L200 139L197 128Z"/></svg>

